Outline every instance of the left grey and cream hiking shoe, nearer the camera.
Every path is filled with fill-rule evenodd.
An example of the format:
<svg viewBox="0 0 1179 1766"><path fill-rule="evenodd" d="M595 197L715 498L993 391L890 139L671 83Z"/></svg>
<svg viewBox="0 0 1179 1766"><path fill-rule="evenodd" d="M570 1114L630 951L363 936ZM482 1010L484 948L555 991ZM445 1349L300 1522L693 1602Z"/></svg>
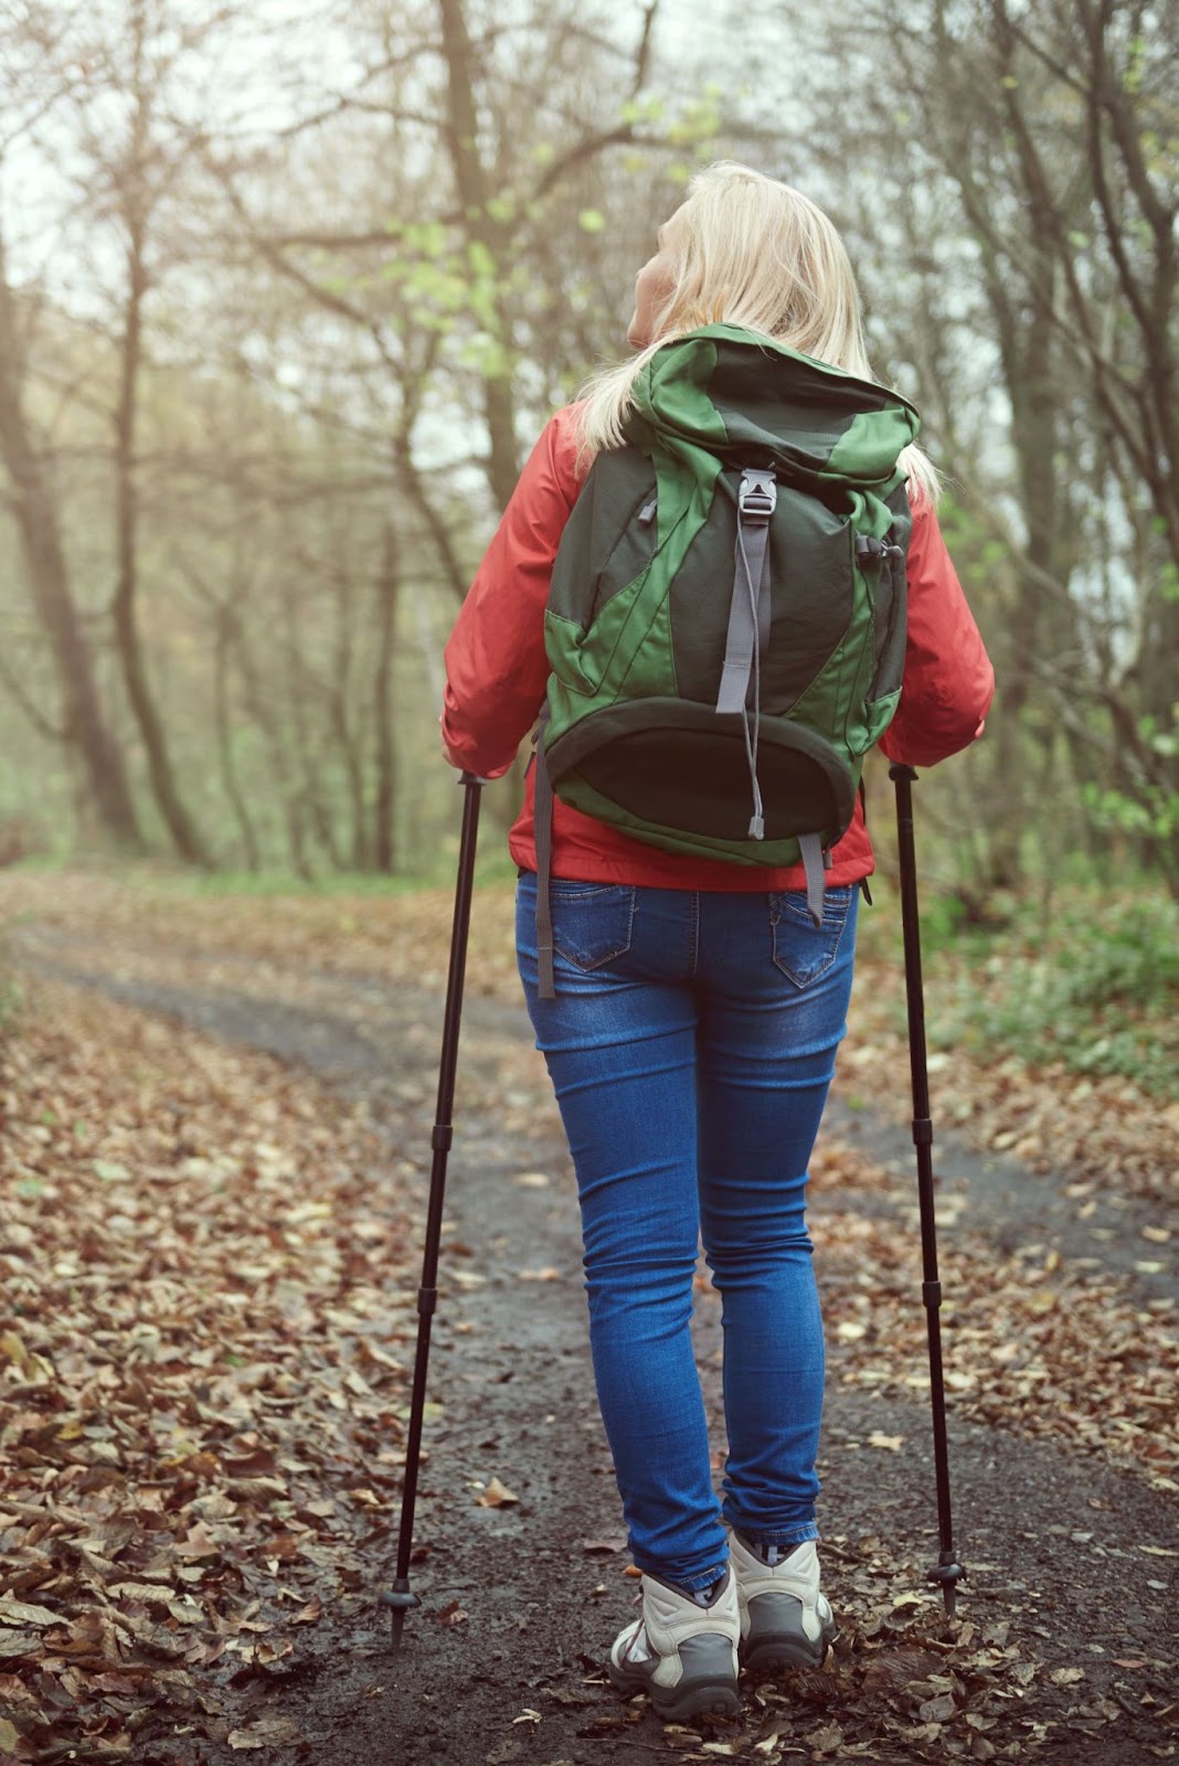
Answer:
<svg viewBox="0 0 1179 1766"><path fill-rule="evenodd" d="M625 1697L646 1692L669 1722L715 1711L736 1717L741 1614L732 1570L688 1595L658 1575L642 1577L642 1614L614 1639L607 1671Z"/></svg>

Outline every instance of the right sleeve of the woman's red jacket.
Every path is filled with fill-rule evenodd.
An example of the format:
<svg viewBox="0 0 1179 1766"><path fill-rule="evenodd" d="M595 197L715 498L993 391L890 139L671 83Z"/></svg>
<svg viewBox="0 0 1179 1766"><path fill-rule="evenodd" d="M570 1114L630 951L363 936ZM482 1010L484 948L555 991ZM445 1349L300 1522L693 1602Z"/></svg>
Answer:
<svg viewBox="0 0 1179 1766"><path fill-rule="evenodd" d="M981 736L995 675L928 498L912 507L907 576L900 706L881 749L891 761L934 766Z"/></svg>

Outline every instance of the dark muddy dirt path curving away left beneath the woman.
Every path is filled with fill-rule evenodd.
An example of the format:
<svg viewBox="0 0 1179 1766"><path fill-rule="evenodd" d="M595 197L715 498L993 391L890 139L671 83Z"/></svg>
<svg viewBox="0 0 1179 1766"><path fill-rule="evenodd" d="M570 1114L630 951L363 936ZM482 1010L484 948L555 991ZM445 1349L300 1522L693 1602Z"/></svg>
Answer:
<svg viewBox="0 0 1179 1766"><path fill-rule="evenodd" d="M21 934L19 961L302 1063L364 1095L378 1121L397 1113L402 1134L406 1107L417 1109L427 1144L439 1021L431 992L263 973L231 952L205 959L205 975L189 962L180 978L159 959L35 929ZM498 1107L473 1109L464 1088ZM955 1420L958 1543L971 1581L965 1632L951 1637L921 1589L935 1554L927 1404L845 1377L851 1346L840 1340L821 1469L826 1582L849 1641L831 1672L752 1694L743 1720L718 1731L665 1731L642 1701L620 1706L597 1664L628 1616L634 1584L621 1577L625 1558L607 1549L620 1517L584 1342L575 1204L522 1010L469 1001L457 1125L431 1379L439 1411L427 1425L418 1508L422 1609L394 1658L372 1607L341 1600L314 1653L245 1688L254 1717L293 1717L318 1766L588 1766L669 1750L704 1761L1029 1755L1080 1766L1175 1755L1174 1503L1098 1455ZM911 1169L904 1134L865 1113L838 1107L830 1127L884 1166ZM1121 1270L1144 1307L1174 1293L1163 1259L1137 1268L1137 1204L1107 1199L1078 1220L1059 1181L948 1141L939 1173L950 1261L958 1234L987 1236L995 1257L1031 1240L1066 1263ZM842 1194L838 1208L849 1201ZM861 1204L911 1231L907 1192L865 1190ZM821 1192L821 1245L831 1208ZM914 1291L918 1277L912 1243ZM1153 1314L1140 1316L1149 1332ZM718 1422L720 1323L708 1289L697 1332ZM492 1476L519 1501L480 1506L478 1485ZM392 1533L378 1531L371 1558L376 1589L392 1574ZM974 1722L951 1722L955 1702Z"/></svg>

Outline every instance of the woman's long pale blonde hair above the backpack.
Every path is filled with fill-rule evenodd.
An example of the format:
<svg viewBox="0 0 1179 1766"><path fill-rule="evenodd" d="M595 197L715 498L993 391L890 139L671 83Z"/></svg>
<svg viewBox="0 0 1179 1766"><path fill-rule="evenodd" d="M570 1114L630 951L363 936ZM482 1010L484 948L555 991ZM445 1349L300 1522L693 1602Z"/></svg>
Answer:
<svg viewBox="0 0 1179 1766"><path fill-rule="evenodd" d="M688 185L664 245L672 286L653 316L651 343L582 389L577 429L586 461L623 445L637 376L662 344L701 325L741 325L860 380L875 378L847 249L801 191L718 161ZM937 502L937 472L916 443L900 464L911 493Z"/></svg>

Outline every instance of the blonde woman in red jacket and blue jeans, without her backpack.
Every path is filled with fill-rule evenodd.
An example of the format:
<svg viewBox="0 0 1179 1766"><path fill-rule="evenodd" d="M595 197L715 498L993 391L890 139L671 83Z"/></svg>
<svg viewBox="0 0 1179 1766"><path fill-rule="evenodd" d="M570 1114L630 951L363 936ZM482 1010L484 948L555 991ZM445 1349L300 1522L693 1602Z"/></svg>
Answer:
<svg viewBox="0 0 1179 1766"><path fill-rule="evenodd" d="M701 173L639 272L637 353L551 419L478 569L447 648L452 765L494 777L512 763L545 692L549 576L586 472L623 440L653 351L711 323L870 378L826 215L747 168ZM881 745L928 766L981 735L994 680L937 528L935 475L916 447L902 464L909 634ZM577 1171L598 1400L642 1572L611 1679L665 1718L736 1711L740 1664L819 1664L833 1634L815 1552L824 1362L805 1190L872 848L856 809L815 925L801 867L662 851L558 802L554 1000L538 989L531 782L510 849L521 977ZM701 1238L724 1309L724 1505L688 1332Z"/></svg>

